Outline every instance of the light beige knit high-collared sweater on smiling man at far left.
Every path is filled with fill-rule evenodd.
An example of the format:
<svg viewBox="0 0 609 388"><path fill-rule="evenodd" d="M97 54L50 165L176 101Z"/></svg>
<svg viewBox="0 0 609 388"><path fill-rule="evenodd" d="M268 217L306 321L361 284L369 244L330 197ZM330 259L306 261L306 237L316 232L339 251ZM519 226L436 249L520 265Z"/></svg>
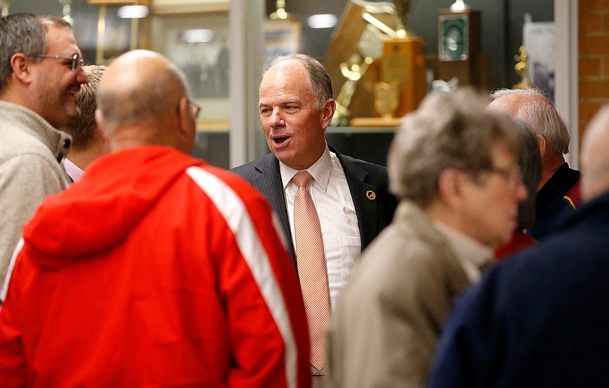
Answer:
<svg viewBox="0 0 609 388"><path fill-rule="evenodd" d="M60 161L70 146L71 136L40 115L0 101L0 289L23 224L69 185Z"/></svg>

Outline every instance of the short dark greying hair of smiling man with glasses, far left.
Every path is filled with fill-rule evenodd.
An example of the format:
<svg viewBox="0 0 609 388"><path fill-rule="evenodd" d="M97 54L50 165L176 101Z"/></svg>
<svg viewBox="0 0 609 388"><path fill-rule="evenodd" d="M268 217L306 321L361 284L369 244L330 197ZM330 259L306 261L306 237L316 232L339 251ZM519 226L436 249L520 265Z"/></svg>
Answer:
<svg viewBox="0 0 609 388"><path fill-rule="evenodd" d="M4 93L13 72L10 65L13 55L21 52L38 62L40 58L35 55L46 53L49 25L71 29L68 22L50 15L15 13L0 18L0 94Z"/></svg>

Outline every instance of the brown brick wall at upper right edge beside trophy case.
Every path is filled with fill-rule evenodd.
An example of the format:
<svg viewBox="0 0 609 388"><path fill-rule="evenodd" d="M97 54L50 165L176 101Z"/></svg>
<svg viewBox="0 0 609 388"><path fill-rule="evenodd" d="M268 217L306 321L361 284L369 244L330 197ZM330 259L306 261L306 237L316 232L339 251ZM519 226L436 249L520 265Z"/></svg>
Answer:
<svg viewBox="0 0 609 388"><path fill-rule="evenodd" d="M609 0L579 0L579 136L609 103Z"/></svg>

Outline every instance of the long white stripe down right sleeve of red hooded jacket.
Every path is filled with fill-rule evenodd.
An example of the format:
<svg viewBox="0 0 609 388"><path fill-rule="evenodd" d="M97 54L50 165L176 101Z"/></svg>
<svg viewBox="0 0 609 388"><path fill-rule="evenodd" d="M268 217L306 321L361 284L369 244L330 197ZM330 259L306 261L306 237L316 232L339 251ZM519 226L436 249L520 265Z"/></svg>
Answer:
<svg viewBox="0 0 609 388"><path fill-rule="evenodd" d="M226 220L239 245L239 250L250 267L264 301L275 320L286 347L287 386L297 387L297 350L294 333L287 313L286 302L269 263L269 256L262 247L258 233L241 198L224 181L199 167L189 167L186 174L214 202ZM273 222L275 224L275 222ZM275 229L277 229L275 227ZM278 230L281 233L281 229ZM280 235L281 238L281 235ZM284 243L284 242L283 242Z"/></svg>

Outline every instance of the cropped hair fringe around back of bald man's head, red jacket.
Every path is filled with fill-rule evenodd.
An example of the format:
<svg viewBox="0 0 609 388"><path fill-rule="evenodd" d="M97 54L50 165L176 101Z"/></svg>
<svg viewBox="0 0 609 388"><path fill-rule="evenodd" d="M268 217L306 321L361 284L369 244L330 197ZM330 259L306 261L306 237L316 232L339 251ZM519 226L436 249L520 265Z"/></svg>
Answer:
<svg viewBox="0 0 609 388"><path fill-rule="evenodd" d="M104 118L105 129L111 132L121 125L128 125L146 119L158 119L167 114L167 109L174 108L168 104L168 96L183 93L189 97L188 83L185 74L170 64L158 73L158 76L144 80L130 91L104 90L97 91L97 105Z"/></svg>

